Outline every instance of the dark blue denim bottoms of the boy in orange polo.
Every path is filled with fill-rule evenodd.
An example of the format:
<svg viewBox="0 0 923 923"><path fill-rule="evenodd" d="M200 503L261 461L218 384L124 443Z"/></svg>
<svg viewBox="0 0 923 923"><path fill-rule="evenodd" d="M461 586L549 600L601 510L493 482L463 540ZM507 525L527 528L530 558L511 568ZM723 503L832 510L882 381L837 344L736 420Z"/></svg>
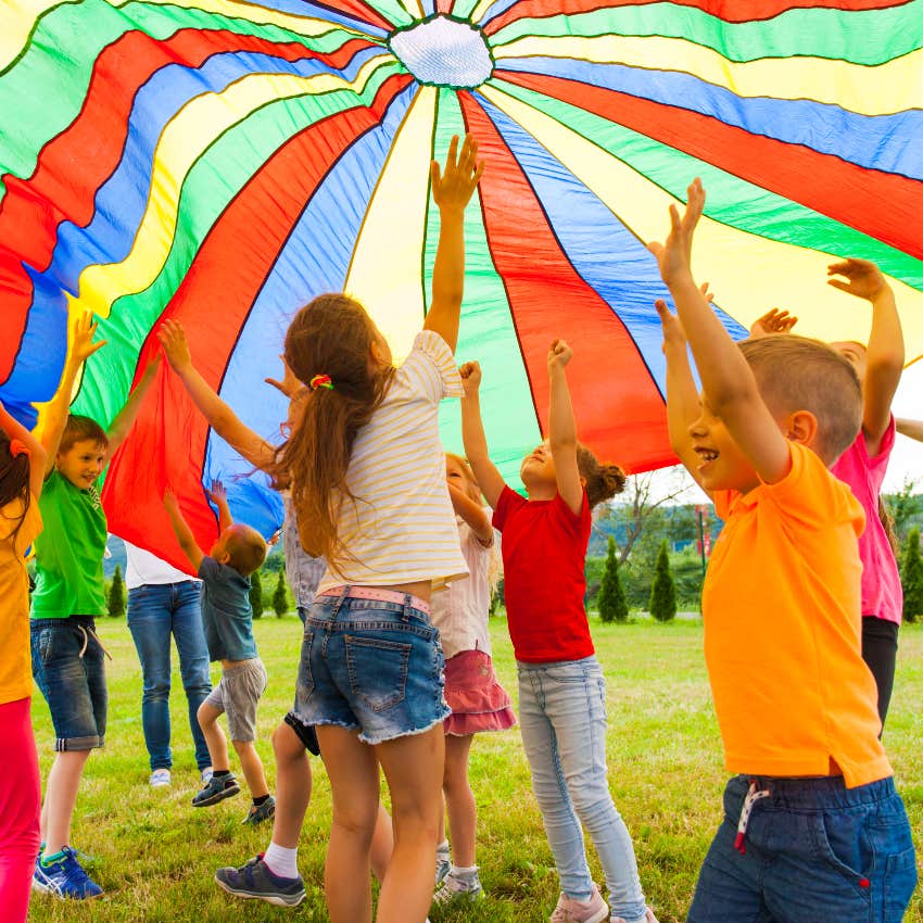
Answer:
<svg viewBox="0 0 923 923"><path fill-rule="evenodd" d="M900 923L916 886L910 824L894 781L754 780L745 852L734 848L750 780L724 789L724 821L687 923Z"/></svg>

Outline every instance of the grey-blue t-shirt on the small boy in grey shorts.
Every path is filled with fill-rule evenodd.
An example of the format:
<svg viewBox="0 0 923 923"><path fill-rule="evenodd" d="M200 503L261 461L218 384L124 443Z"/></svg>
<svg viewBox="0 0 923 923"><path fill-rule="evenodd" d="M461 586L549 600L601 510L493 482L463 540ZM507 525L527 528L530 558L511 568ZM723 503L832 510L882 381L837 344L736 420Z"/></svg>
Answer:
<svg viewBox="0 0 923 923"><path fill-rule="evenodd" d="M250 660L256 657L250 578L207 556L199 566L199 578L208 659Z"/></svg>

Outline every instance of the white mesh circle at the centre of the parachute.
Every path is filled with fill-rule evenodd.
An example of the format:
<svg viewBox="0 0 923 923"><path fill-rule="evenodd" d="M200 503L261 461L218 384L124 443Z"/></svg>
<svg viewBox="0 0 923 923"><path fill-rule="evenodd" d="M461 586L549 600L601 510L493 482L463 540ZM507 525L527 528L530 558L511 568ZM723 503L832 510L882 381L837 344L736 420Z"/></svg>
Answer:
<svg viewBox="0 0 923 923"><path fill-rule="evenodd" d="M479 87L493 71L481 30L441 15L394 33L390 45L421 84Z"/></svg>

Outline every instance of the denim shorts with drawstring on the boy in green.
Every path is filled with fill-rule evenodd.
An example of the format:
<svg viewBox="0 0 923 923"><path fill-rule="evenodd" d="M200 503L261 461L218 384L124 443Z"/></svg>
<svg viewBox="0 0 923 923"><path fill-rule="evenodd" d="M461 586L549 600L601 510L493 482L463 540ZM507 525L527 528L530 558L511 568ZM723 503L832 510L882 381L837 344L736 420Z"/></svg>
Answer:
<svg viewBox="0 0 923 923"><path fill-rule="evenodd" d="M51 711L54 749L103 746L109 693L93 619L31 619L29 629L33 674Z"/></svg>

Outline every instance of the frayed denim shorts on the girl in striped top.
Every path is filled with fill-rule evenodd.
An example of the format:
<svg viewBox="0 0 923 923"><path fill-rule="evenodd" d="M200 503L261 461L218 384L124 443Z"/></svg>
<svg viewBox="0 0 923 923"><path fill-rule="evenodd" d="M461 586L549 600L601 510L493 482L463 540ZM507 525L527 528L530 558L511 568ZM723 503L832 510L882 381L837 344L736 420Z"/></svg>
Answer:
<svg viewBox="0 0 923 923"><path fill-rule="evenodd" d="M318 596L301 648L295 715L305 724L357 730L380 744L428 731L451 713L445 661L429 615L413 605Z"/></svg>

